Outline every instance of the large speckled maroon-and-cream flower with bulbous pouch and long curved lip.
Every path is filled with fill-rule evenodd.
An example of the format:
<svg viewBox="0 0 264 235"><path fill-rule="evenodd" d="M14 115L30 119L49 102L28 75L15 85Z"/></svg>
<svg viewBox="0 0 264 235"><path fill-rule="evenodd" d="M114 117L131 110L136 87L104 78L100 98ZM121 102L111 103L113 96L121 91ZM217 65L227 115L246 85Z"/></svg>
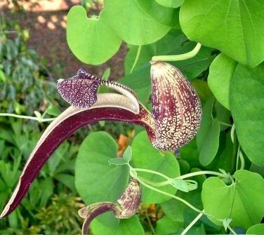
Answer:
<svg viewBox="0 0 264 235"><path fill-rule="evenodd" d="M0 218L15 210L60 143L88 123L110 120L143 126L152 145L161 150L176 149L190 142L197 133L202 117L201 102L196 91L179 69L167 63L152 63L151 76L152 114L130 88L103 81L82 69L71 79L59 80L58 90L72 106L62 112L41 135ZM98 85L108 86L121 94L97 95Z"/></svg>

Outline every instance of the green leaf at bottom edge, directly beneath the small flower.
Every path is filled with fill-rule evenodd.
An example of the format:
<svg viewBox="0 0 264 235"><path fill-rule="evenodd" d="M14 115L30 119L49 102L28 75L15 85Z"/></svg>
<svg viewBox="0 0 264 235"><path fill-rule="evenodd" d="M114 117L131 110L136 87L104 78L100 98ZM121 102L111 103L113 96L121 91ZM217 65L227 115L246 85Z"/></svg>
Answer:
<svg viewBox="0 0 264 235"><path fill-rule="evenodd" d="M114 235L143 235L144 229L140 224L140 220L138 219L138 215L134 215L133 217L120 220L119 224L115 227L107 227L105 224L98 220L93 220L91 223L91 229L94 235L105 235L105 234L114 234Z"/></svg>

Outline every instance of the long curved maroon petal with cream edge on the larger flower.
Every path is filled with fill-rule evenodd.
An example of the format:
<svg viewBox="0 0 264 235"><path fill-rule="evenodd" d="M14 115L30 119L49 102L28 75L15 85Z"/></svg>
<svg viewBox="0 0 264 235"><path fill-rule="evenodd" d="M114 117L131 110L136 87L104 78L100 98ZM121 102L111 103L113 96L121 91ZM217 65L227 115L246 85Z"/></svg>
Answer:
<svg viewBox="0 0 264 235"><path fill-rule="evenodd" d="M147 112L143 106L140 105L139 107L140 112L138 113L134 113L122 107L96 106L86 110L70 107L66 109L65 112L62 112L62 114L48 126L43 135L41 135L37 146L29 156L25 168L20 175L18 185L1 213L0 218L9 215L15 210L27 193L30 185L37 177L39 170L41 170L51 154L53 154L63 140L82 126L100 120L125 121L145 127L147 133L150 135L150 140L152 140L154 133L150 121L152 119L150 116L151 114Z"/></svg>

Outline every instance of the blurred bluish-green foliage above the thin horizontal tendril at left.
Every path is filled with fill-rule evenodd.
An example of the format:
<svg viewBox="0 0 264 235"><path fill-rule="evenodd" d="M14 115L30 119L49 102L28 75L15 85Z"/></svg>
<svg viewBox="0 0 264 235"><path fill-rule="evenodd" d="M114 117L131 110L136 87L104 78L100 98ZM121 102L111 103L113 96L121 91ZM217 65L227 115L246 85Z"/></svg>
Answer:
<svg viewBox="0 0 264 235"><path fill-rule="evenodd" d="M46 100L55 102L55 83L48 76L44 58L27 48L29 31L0 17L0 112L32 115ZM42 107L43 109L43 107Z"/></svg>

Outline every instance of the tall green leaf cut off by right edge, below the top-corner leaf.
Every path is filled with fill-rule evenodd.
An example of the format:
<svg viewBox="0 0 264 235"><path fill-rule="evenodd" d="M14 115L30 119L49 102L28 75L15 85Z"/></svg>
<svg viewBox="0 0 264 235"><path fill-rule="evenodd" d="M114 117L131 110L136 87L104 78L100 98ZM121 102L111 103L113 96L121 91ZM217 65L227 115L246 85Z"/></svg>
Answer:
<svg viewBox="0 0 264 235"><path fill-rule="evenodd" d="M264 64L237 65L230 88L230 108L237 137L249 159L264 166Z"/></svg>

